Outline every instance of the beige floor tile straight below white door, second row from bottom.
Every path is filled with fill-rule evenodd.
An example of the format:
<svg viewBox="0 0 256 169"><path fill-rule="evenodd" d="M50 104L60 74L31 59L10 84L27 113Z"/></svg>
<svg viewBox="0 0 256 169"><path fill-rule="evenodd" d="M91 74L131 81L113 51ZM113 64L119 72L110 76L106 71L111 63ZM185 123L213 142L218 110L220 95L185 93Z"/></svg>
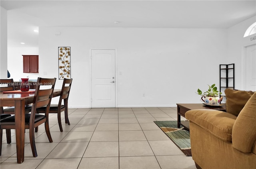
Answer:
<svg viewBox="0 0 256 169"><path fill-rule="evenodd" d="M118 157L118 141L90 142L83 157Z"/></svg>

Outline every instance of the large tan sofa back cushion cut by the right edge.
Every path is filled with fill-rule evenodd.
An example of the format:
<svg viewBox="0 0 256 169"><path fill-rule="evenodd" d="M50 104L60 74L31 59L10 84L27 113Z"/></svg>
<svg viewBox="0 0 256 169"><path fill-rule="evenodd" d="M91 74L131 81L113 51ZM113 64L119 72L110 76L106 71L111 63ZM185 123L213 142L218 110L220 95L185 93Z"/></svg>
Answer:
<svg viewBox="0 0 256 169"><path fill-rule="evenodd" d="M256 146L256 92L239 113L232 130L232 146L244 153ZM254 152L255 153L255 152Z"/></svg>

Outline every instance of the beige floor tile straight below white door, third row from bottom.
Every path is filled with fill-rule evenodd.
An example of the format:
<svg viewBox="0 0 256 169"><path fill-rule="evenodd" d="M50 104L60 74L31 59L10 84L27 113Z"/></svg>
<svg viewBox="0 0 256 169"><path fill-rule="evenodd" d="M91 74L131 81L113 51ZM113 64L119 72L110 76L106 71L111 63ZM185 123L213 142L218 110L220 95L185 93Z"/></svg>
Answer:
<svg viewBox="0 0 256 169"><path fill-rule="evenodd" d="M118 131L95 131L90 141L118 141Z"/></svg>

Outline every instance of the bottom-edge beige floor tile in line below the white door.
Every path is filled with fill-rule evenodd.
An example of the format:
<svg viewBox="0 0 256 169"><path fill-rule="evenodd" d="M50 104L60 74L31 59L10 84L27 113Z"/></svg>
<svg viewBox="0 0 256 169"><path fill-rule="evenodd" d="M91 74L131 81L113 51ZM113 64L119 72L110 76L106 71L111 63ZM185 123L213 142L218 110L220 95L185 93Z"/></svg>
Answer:
<svg viewBox="0 0 256 169"><path fill-rule="evenodd" d="M119 169L118 157L82 158L78 169Z"/></svg>

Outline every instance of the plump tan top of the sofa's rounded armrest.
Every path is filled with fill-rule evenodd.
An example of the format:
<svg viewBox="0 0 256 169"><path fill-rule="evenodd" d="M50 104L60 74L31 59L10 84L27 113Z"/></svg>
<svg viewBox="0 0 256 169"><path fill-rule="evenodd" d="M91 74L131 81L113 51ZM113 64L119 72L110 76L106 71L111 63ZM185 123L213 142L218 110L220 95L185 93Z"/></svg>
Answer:
<svg viewBox="0 0 256 169"><path fill-rule="evenodd" d="M195 109L187 111L185 117L217 138L232 141L231 134L236 116L219 110Z"/></svg>

